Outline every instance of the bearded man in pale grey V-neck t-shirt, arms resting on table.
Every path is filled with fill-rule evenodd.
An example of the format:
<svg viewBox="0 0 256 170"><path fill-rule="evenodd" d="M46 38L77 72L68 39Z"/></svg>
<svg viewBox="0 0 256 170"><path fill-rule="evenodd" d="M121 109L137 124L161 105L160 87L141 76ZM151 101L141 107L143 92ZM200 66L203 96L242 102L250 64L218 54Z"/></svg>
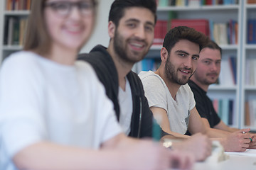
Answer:
<svg viewBox="0 0 256 170"><path fill-rule="evenodd" d="M193 92L188 79L197 68L199 52L208 42L205 35L193 28L179 26L166 34L161 48L161 65L156 72L141 72L145 96L149 107L161 117L161 128L176 137L201 132L208 137L220 137L226 151L242 152L249 146L248 135L243 131L230 133L206 127L196 110Z"/></svg>

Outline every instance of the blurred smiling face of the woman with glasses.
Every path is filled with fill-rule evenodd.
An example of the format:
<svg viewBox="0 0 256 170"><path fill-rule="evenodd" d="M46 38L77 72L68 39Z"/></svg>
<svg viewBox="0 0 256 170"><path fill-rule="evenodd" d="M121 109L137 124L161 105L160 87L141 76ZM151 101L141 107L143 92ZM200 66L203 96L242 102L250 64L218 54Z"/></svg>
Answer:
<svg viewBox="0 0 256 170"><path fill-rule="evenodd" d="M90 0L83 0L92 3ZM63 1L62 1L63 2ZM78 0L66 0L65 2L78 2ZM48 0L46 4L60 3L60 0ZM94 25L94 10L87 16L82 16L78 6L72 6L68 16L61 16L63 6L46 6L44 18L46 29L50 35L53 47L63 49L79 50L80 47L90 38Z"/></svg>

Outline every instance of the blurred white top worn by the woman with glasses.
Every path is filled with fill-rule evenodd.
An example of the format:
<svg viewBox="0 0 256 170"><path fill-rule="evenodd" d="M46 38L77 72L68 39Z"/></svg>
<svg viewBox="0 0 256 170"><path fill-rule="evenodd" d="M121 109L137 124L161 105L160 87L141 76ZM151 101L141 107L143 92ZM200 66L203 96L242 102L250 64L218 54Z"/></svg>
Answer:
<svg viewBox="0 0 256 170"><path fill-rule="evenodd" d="M0 72L0 169L39 141L98 149L122 132L90 64L58 64L33 52L6 58Z"/></svg>

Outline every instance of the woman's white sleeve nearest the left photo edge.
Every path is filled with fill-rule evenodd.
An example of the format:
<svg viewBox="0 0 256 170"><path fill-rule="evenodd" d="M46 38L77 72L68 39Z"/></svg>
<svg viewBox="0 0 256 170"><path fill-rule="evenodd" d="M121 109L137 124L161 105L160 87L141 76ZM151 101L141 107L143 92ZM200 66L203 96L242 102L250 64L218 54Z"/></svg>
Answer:
<svg viewBox="0 0 256 170"><path fill-rule="evenodd" d="M40 91L34 63L21 56L4 61L0 73L0 143L13 157L20 149L41 140L45 133L38 113Z"/></svg>

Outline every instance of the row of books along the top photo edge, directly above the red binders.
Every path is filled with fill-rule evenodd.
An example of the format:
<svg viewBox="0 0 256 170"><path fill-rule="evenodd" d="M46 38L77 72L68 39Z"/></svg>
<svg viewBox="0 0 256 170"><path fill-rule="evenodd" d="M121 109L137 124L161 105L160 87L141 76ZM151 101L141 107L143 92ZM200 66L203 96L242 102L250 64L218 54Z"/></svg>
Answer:
<svg viewBox="0 0 256 170"><path fill-rule="evenodd" d="M158 6L205 6L238 4L238 0L156 0Z"/></svg>

